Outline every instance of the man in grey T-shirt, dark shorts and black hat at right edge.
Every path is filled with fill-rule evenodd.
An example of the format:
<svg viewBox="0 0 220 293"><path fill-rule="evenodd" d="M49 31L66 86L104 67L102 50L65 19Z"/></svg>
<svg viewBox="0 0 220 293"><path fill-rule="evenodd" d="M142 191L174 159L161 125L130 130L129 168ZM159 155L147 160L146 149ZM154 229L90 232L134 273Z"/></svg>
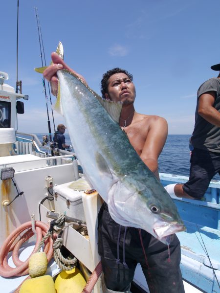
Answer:
<svg viewBox="0 0 220 293"><path fill-rule="evenodd" d="M220 64L211 69L220 71ZM201 200L212 178L220 174L220 73L198 88L190 143L193 150L189 181L165 188L171 196Z"/></svg>

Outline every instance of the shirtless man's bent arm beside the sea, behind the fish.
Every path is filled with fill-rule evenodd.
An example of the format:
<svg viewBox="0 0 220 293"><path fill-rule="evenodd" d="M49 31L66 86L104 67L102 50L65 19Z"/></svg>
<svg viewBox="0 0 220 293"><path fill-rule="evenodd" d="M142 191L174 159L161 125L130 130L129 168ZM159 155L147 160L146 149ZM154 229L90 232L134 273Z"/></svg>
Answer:
<svg viewBox="0 0 220 293"><path fill-rule="evenodd" d="M140 158L159 180L158 157L167 139L167 121L158 116L150 118L149 132L141 152Z"/></svg>

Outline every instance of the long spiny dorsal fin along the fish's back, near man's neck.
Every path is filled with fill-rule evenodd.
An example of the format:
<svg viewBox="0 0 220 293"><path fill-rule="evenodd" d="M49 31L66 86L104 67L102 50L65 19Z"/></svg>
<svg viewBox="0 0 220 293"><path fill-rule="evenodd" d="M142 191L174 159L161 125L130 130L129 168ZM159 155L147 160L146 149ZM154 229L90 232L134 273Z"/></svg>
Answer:
<svg viewBox="0 0 220 293"><path fill-rule="evenodd" d="M75 73L67 70L67 69L62 69L65 72L73 75L75 78L77 78L95 97L96 99L100 102L100 104L105 108L105 110L109 113L111 118L119 123L120 115L121 115L121 109L122 109L122 103L121 102L112 102L110 100L105 100L100 95L98 95L94 90L88 87L88 85Z"/></svg>

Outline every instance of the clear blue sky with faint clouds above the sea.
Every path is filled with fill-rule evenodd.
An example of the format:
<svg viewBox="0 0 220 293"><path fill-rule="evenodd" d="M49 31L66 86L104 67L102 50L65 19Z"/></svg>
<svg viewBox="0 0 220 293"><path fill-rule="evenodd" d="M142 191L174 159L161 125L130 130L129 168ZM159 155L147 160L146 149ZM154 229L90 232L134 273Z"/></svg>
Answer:
<svg viewBox="0 0 220 293"><path fill-rule="evenodd" d="M20 0L18 79L29 100L19 129L48 133L42 76L34 71L41 66L34 7L47 64L61 41L66 63L98 93L104 72L125 68L133 74L138 113L166 118L169 134L192 133L198 87L218 75L210 66L220 63L219 0ZM0 9L0 71L15 86L17 0L1 1ZM51 114L49 101L48 108Z"/></svg>

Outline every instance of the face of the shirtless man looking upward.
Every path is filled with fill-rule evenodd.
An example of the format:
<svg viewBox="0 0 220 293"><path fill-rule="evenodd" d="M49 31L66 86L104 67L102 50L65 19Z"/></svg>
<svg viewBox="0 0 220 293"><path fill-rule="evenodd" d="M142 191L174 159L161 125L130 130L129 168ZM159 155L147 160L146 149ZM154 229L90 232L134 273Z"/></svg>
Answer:
<svg viewBox="0 0 220 293"><path fill-rule="evenodd" d="M119 72L110 76L108 93L106 99L113 102L123 102L123 105L129 105L135 99L135 87L131 79L125 73Z"/></svg>

